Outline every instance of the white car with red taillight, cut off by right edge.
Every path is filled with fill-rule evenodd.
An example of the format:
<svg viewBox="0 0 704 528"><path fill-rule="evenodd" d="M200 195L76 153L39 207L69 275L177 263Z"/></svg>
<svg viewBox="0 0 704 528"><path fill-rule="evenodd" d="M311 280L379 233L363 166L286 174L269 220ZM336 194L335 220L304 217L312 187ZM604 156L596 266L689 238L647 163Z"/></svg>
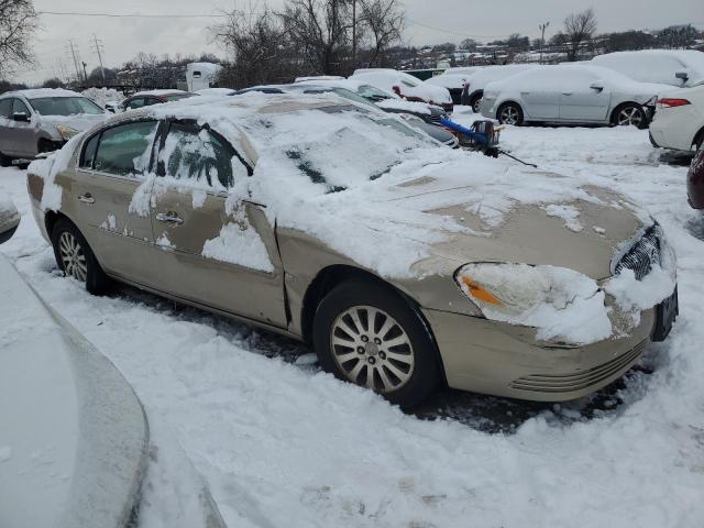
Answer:
<svg viewBox="0 0 704 528"><path fill-rule="evenodd" d="M660 95L650 123L653 146L678 151L697 150L704 144L704 81Z"/></svg>

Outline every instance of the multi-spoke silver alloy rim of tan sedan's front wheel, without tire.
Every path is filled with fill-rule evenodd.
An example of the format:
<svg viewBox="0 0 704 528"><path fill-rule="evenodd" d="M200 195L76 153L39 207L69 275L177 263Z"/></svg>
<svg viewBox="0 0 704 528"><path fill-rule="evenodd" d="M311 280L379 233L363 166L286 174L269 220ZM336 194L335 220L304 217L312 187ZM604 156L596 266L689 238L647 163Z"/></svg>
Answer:
<svg viewBox="0 0 704 528"><path fill-rule="evenodd" d="M384 310L371 306L353 306L337 317L330 348L349 381L377 393L403 387L416 364L403 327Z"/></svg>

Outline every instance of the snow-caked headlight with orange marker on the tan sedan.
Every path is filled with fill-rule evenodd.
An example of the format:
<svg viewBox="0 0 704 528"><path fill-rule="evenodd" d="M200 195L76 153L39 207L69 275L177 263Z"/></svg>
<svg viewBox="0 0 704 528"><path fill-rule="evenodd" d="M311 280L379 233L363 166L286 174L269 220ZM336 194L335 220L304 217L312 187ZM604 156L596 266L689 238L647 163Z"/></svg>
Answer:
<svg viewBox="0 0 704 528"><path fill-rule="evenodd" d="M535 328L539 340L587 344L612 334L604 292L573 270L466 264L455 282L486 319Z"/></svg>

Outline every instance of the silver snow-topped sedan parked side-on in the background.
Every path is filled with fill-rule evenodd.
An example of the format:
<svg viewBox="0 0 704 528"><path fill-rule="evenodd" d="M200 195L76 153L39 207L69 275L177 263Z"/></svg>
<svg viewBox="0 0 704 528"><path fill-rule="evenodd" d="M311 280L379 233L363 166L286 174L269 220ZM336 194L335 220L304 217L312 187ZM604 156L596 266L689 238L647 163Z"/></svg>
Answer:
<svg viewBox="0 0 704 528"><path fill-rule="evenodd" d="M484 88L483 116L505 124L525 122L648 127L667 85L635 81L591 65L536 66Z"/></svg>

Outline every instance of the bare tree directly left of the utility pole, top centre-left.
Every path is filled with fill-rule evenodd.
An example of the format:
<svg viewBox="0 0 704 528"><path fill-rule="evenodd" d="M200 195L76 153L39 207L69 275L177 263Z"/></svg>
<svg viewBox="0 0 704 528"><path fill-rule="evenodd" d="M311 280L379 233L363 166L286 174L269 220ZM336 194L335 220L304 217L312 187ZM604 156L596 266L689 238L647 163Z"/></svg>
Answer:
<svg viewBox="0 0 704 528"><path fill-rule="evenodd" d="M311 74L350 69L351 8L350 0L288 0L282 13L284 24Z"/></svg>

